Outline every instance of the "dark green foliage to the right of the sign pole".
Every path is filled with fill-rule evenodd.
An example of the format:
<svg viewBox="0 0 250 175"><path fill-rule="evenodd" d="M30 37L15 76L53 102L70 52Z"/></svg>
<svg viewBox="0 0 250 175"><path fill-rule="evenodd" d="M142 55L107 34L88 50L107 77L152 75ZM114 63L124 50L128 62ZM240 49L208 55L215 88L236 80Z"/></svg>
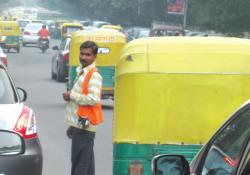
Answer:
<svg viewBox="0 0 250 175"><path fill-rule="evenodd" d="M250 29L248 0L190 0L188 22L207 30L239 35Z"/></svg>

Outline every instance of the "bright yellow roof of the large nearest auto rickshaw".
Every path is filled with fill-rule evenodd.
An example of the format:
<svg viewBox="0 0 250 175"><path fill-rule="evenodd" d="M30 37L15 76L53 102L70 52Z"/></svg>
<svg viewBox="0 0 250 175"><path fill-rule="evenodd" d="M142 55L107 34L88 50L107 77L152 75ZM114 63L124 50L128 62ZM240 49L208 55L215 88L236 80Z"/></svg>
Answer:
<svg viewBox="0 0 250 175"><path fill-rule="evenodd" d="M223 37L133 40L124 47L117 62L117 76L136 72L249 74L250 40Z"/></svg>

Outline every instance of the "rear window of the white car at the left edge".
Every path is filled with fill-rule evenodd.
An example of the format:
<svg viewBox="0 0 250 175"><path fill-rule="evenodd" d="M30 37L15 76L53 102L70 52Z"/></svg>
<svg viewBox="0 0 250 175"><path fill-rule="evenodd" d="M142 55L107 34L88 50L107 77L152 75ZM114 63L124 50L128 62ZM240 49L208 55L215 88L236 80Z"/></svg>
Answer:
<svg viewBox="0 0 250 175"><path fill-rule="evenodd" d="M0 104L17 102L15 91L4 69L0 68Z"/></svg>

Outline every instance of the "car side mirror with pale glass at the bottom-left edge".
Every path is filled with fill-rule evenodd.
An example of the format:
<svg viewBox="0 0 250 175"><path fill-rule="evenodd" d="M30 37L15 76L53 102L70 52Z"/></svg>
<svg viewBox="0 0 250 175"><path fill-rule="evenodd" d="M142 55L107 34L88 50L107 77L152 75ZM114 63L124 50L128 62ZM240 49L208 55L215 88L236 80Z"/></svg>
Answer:
<svg viewBox="0 0 250 175"><path fill-rule="evenodd" d="M0 130L0 156L13 156L23 152L24 141L17 133Z"/></svg>

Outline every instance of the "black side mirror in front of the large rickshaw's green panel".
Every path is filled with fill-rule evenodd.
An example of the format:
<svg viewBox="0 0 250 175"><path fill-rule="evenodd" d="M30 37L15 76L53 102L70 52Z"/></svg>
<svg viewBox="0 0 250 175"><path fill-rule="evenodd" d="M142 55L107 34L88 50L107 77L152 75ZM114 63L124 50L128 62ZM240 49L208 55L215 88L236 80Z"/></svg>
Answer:
<svg viewBox="0 0 250 175"><path fill-rule="evenodd" d="M151 164L153 175L190 175L189 164L181 155L158 155Z"/></svg>

